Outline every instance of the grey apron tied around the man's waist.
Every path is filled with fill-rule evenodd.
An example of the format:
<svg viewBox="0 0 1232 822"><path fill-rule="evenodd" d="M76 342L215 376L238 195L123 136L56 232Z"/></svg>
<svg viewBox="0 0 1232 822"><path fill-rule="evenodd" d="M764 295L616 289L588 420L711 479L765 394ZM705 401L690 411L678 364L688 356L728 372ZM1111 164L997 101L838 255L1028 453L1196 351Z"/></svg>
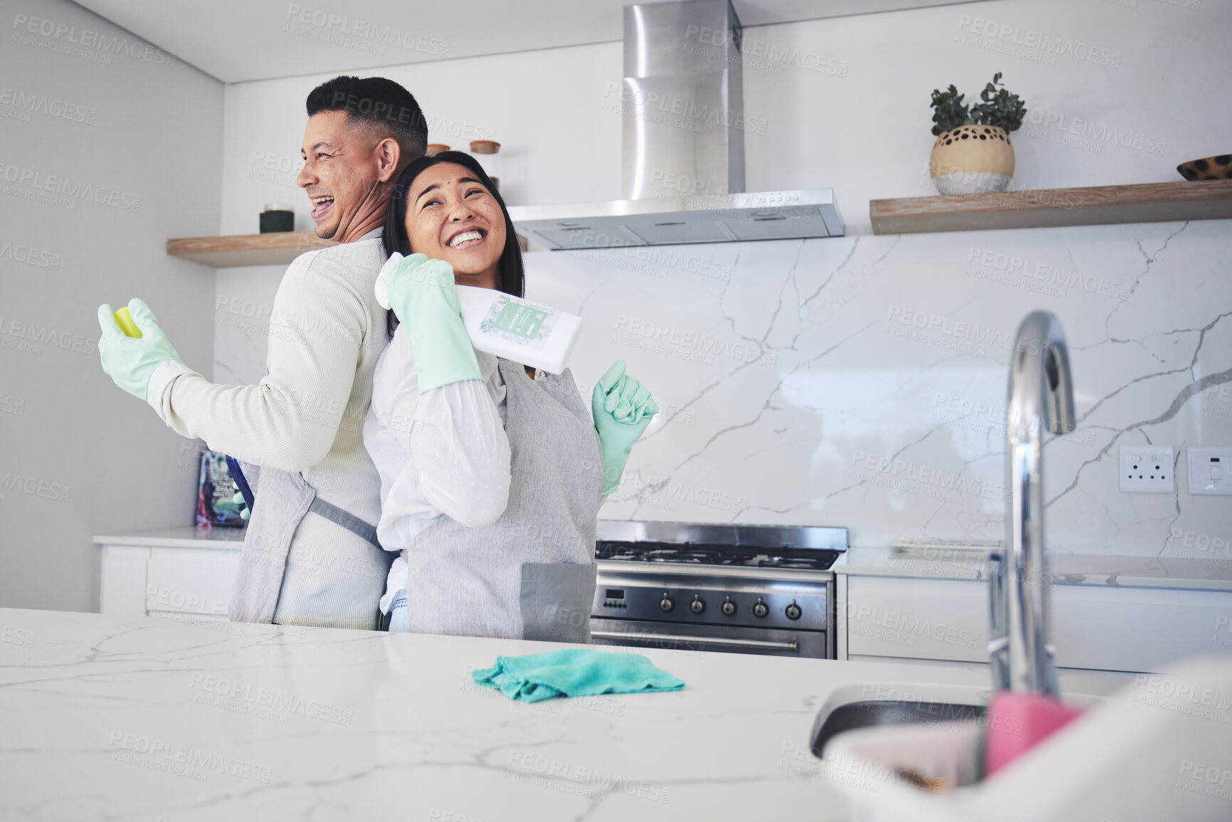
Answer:
<svg viewBox="0 0 1232 822"><path fill-rule="evenodd" d="M227 619L230 621L262 624L274 621L287 567L287 555L299 521L309 511L333 520L362 537L376 547L378 556L388 556L381 550L375 526L338 505L319 499L317 490L298 471L282 471L267 466L254 470L246 463L243 468L254 495L260 486L261 504L254 503L253 518L244 535L244 550L240 552L235 584L227 610ZM388 562L384 564L388 567ZM375 604L373 614L376 614Z"/></svg>

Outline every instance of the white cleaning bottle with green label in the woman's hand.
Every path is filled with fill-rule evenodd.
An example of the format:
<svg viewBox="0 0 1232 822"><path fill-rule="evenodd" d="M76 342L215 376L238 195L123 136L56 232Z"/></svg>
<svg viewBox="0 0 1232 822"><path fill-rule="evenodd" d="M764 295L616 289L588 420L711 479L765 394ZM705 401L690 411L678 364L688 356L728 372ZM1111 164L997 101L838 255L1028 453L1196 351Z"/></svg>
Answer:
<svg viewBox="0 0 1232 822"><path fill-rule="evenodd" d="M376 297L389 308L389 275L402 261L394 251L377 275ZM494 288L456 286L471 345L505 360L561 373L582 330L582 318Z"/></svg>

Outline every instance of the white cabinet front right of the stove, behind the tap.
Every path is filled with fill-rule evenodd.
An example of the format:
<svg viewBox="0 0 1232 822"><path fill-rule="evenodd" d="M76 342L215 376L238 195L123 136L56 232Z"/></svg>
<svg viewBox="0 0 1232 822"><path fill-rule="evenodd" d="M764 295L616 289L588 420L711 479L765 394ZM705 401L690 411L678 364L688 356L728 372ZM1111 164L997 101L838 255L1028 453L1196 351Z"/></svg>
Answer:
<svg viewBox="0 0 1232 822"><path fill-rule="evenodd" d="M1232 592L1055 585L1050 595L1062 668L1149 672L1230 651ZM988 662L984 582L850 576L845 605L849 658Z"/></svg>

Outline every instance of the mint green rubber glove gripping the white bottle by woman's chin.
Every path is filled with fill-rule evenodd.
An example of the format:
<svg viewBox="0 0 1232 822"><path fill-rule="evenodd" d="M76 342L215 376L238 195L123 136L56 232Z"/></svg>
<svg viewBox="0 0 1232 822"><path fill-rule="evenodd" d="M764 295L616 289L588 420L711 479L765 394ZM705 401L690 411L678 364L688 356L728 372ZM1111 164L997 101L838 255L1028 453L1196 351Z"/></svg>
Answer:
<svg viewBox="0 0 1232 822"><path fill-rule="evenodd" d="M463 380L482 380L479 360L462 324L453 266L424 254L389 258L389 307L407 327L419 373L419 393Z"/></svg>

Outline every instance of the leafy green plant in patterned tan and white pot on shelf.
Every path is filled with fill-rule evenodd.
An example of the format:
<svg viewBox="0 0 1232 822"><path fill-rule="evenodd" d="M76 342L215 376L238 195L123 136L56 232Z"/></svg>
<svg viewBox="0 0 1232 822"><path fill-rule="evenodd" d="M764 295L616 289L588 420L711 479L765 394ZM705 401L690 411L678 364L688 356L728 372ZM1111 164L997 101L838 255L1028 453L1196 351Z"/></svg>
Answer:
<svg viewBox="0 0 1232 822"><path fill-rule="evenodd" d="M1014 145L1009 132L1023 124L1026 106L1000 86L1000 71L968 107L951 84L933 90L933 154L928 170L944 195L1004 191L1014 175Z"/></svg>

